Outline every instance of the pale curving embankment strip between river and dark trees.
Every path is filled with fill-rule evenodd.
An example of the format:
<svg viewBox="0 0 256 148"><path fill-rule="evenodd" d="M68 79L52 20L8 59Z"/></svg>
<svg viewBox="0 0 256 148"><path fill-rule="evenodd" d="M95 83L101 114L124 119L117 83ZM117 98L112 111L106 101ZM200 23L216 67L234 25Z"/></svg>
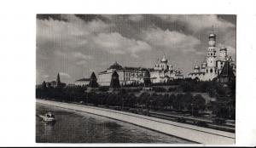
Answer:
<svg viewBox="0 0 256 148"><path fill-rule="evenodd" d="M147 117L125 111L115 111L89 105L77 105L50 100L36 100L38 104L53 105L73 111L84 111L102 117L109 117L123 122L152 129L164 134L170 134L182 139L188 139L204 145L233 145L235 134L211 128L202 128L180 122L172 122L156 117Z"/></svg>

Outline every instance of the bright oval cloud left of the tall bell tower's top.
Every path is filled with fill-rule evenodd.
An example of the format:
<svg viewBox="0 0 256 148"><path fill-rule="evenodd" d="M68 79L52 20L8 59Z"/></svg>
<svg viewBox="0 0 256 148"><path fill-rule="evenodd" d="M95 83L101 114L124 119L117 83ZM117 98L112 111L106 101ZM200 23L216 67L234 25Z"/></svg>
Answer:
<svg viewBox="0 0 256 148"><path fill-rule="evenodd" d="M166 31L160 28L149 28L143 31L143 38L155 48L168 50L181 50L183 52L195 51L195 46L201 41L193 36L185 35L178 31Z"/></svg>

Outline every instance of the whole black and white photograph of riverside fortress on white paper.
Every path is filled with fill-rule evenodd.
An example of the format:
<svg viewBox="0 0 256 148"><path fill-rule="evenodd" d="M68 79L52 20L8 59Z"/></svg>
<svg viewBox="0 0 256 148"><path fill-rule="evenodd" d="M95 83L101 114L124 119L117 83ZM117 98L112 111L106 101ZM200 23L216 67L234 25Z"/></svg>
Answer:
<svg viewBox="0 0 256 148"><path fill-rule="evenodd" d="M35 142L236 144L236 14L36 14Z"/></svg>

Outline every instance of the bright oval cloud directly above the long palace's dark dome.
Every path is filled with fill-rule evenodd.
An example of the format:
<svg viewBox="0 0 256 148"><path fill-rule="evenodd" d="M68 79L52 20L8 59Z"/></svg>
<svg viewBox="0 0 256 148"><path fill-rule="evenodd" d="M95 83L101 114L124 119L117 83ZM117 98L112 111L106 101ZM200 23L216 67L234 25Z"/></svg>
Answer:
<svg viewBox="0 0 256 148"><path fill-rule="evenodd" d="M131 54L137 57L137 53L152 49L148 43L123 37L118 32L100 33L93 41L96 46L110 54Z"/></svg>

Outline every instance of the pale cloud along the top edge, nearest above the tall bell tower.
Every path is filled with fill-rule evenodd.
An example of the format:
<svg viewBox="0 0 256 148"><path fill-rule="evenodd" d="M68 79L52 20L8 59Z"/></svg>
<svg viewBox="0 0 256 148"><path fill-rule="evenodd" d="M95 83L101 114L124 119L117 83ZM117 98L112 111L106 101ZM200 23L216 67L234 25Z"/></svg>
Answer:
<svg viewBox="0 0 256 148"><path fill-rule="evenodd" d="M189 28L190 31L201 31L206 28L214 28L218 29L227 29L235 27L234 24L229 21L219 19L217 15L209 15L209 14L185 14L185 15L169 15L169 14L159 14L156 15L161 20L165 20L167 22L177 22L184 24Z"/></svg>

